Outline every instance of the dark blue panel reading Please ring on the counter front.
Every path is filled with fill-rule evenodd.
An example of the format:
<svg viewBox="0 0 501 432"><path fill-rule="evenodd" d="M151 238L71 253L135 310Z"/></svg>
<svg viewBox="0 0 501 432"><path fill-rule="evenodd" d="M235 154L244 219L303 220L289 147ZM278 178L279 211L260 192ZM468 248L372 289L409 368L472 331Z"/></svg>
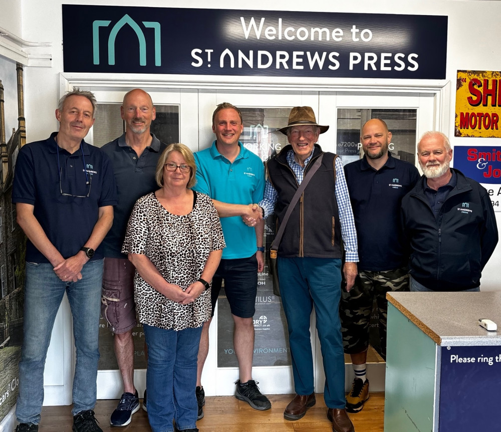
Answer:
<svg viewBox="0 0 501 432"><path fill-rule="evenodd" d="M442 347L441 354L438 430L499 430L501 347Z"/></svg>

